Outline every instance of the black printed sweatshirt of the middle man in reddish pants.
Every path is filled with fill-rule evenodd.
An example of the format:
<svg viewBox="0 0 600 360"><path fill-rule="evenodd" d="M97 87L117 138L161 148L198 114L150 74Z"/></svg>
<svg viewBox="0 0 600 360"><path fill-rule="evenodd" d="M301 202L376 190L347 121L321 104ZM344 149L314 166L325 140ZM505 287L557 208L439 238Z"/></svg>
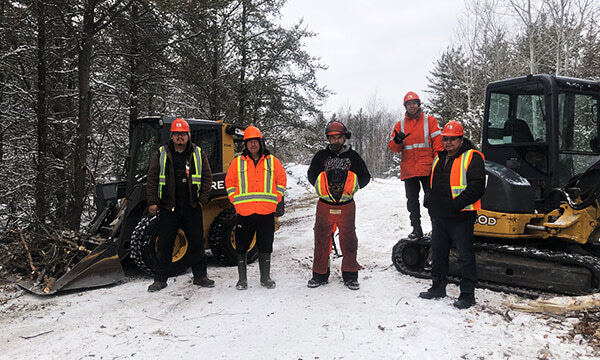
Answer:
<svg viewBox="0 0 600 360"><path fill-rule="evenodd" d="M358 185L361 189L371 181L371 174L369 174L367 164L365 164L365 161L356 151L352 150L352 146L348 144L345 144L339 153L331 151L329 145L325 149L319 150L310 162L307 172L308 181L314 185L321 171L330 169L352 171L358 176Z"/></svg>

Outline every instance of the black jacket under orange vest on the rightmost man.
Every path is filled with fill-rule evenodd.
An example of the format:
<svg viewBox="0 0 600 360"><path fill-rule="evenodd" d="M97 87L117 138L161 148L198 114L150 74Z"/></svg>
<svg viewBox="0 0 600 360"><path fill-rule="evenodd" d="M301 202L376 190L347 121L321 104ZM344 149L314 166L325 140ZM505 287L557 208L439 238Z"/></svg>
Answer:
<svg viewBox="0 0 600 360"><path fill-rule="evenodd" d="M481 155L473 154L467 169L467 188L455 199L452 198L450 189L450 170L454 159L469 149L475 149L475 147L469 139L465 138L463 145L454 156L448 158L446 150L438 152L439 161L433 173L433 184L424 201L431 218L475 220L476 211L461 210L481 199L485 192L485 168Z"/></svg>

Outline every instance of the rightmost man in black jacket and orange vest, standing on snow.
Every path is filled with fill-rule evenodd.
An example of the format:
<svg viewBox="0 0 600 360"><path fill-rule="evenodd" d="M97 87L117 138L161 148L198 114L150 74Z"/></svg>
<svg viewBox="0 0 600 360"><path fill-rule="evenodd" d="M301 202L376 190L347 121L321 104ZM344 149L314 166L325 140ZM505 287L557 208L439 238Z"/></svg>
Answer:
<svg viewBox="0 0 600 360"><path fill-rule="evenodd" d="M444 150L438 152L431 169L431 192L425 207L431 217L431 277L433 284L421 292L424 299L446 296L448 257L453 243L460 265L460 296L454 302L459 309L475 304L477 281L473 249L473 225L481 197L485 192L483 154L464 137L462 125L449 121L442 131Z"/></svg>

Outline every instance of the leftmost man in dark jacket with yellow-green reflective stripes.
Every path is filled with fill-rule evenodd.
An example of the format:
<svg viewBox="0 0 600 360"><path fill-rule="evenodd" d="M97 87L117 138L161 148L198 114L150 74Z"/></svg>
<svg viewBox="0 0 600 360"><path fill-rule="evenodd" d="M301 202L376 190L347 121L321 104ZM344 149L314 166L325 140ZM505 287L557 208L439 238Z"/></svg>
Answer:
<svg viewBox="0 0 600 360"><path fill-rule="evenodd" d="M202 205L208 202L212 172L206 154L191 141L190 126L182 118L171 123L171 139L154 154L148 169L148 212L158 219L158 241L154 258L154 282L148 291L167 286L168 267L179 229L185 232L193 263L193 284L213 287L207 276L204 254Z"/></svg>

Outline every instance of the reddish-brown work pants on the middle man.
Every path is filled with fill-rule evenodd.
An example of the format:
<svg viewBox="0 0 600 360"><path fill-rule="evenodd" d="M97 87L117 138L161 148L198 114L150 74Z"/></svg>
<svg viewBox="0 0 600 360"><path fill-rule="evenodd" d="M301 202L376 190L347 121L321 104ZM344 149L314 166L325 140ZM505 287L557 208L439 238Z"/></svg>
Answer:
<svg viewBox="0 0 600 360"><path fill-rule="evenodd" d="M313 271L317 274L327 274L329 254L331 252L332 235L339 229L340 249L342 250L342 271L357 272L361 266L356 261L358 238L354 219L356 204L351 201L344 205L331 205L323 201L317 203L315 220L315 253Z"/></svg>

